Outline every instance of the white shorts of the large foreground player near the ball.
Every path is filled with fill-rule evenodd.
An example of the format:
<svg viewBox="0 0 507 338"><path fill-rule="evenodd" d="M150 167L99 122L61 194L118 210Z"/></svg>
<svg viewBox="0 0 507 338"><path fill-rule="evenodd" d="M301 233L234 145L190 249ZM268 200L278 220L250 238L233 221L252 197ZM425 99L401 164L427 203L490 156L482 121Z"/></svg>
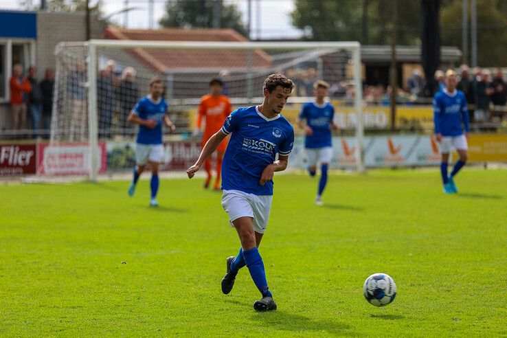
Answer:
<svg viewBox="0 0 507 338"><path fill-rule="evenodd" d="M264 234L271 212L271 195L254 195L239 190L224 190L222 195L222 207L229 215L231 227L240 217L254 218L254 231Z"/></svg>

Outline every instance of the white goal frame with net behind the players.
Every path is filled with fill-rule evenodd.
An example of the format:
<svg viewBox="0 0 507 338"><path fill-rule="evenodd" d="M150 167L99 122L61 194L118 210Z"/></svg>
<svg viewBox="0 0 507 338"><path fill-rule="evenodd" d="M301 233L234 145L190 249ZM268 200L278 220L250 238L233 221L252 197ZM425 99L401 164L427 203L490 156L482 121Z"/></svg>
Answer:
<svg viewBox="0 0 507 338"><path fill-rule="evenodd" d="M82 49L78 53L74 54L82 54L81 58L83 59L85 65L85 75L86 75L86 82L84 84L84 87L86 87L86 109L87 110L87 121L83 121L82 124L87 125L87 130L82 129L81 133L83 135L80 135L80 138L78 139L74 135L77 135L78 131L74 131L71 133L70 140L71 141L82 141L87 142L87 145L89 147L89 151L87 152L88 157L88 164L89 164L89 172L88 176L91 181L97 181L98 174L99 174L99 167L100 167L100 146L99 146L99 135L100 135L100 121L99 121L99 113L98 113L98 78L100 77L100 71L99 69L99 63L100 58L104 58L104 56L101 55L102 52L107 51L109 52L109 55L113 54L115 51L155 51L164 49L166 50L165 53L170 54L170 52L178 51L179 55L185 55L185 51L188 51L188 54L192 54L196 50L204 50L204 51L214 51L210 53L217 54L220 51L227 51L227 53L233 53L232 51L242 51L242 53L245 55L243 58L245 60L242 60L243 64L245 65L245 69L242 72L236 73L236 79L240 78L241 84L240 86L243 87L245 94L245 100L239 100L236 99L237 102L256 102L260 98L260 95L258 98L254 98L253 93L258 92L258 78L254 77L260 77L260 74L262 71L258 71L258 59L255 58L258 56L258 53L263 53L269 57L272 55L276 55L276 57L280 60L284 60L284 65L297 65L301 62L308 62L308 60L311 60L311 58L315 58L315 64L317 66L320 65L322 67L322 58L319 58L322 55L331 55L333 53L341 53L346 54L346 57L341 56L341 64L339 65L340 69L347 68L347 70L350 72L350 76L348 77L348 83L349 86L353 90L350 91L350 95L348 95L349 99L349 105L354 108L355 111L355 164L357 166L358 172L363 172L365 170L364 167L364 159L363 159L363 119L362 119L362 85L361 85L361 45L358 42L196 42L196 41L127 41L127 40L90 40L88 42L84 43L60 43L56 48L56 56L57 56L57 65L56 65L56 84L55 84L55 102L64 102L59 104L54 104L54 111L53 115L54 121L52 122L52 137L51 137L51 143L53 142L68 142L69 137L61 136L61 135L67 135L67 131L65 130L68 128L69 124L74 125L76 122L63 122L63 118L58 118L58 109L62 109L65 111L65 106L69 106L69 103L65 102L74 102L69 99L64 99L65 95L69 95L68 91L74 91L74 89L69 89L69 86L67 84L67 87L60 84L60 87L58 87L58 81L69 81L65 80L66 77L69 78L69 74L73 72L73 69L71 67L65 66L66 61L63 60L63 58L58 58L58 53L62 53L62 51L65 51L66 49L71 49L71 47L78 47L81 46ZM246 52L245 52L246 51ZM250 52L249 52L250 51ZM260 52L259 52L260 51ZM183 52L183 53L182 53ZM271 53L271 54L270 54ZM74 57L74 54L69 54L71 56L65 56L66 58ZM138 56L138 55L137 55ZM106 56L108 57L108 56ZM78 60L79 57L76 56L76 60ZM328 58L328 63L334 62L335 58ZM346 61L343 61L346 60ZM73 60L74 63L80 63L80 61ZM303 61L302 61L303 60ZM332 61L329 61L332 60ZM62 65L60 65L60 63ZM102 60L103 63L103 60ZM343 63L346 63L343 65ZM75 65L73 66L74 69L76 68ZM282 66L280 66L282 67ZM284 66L285 67L285 66ZM333 67L336 68L336 65L328 65L328 68L333 69ZM318 68L318 67L317 67ZM275 65L269 69L269 71L274 72L273 70L278 69ZM282 68L280 68L282 69ZM284 68L286 69L286 67ZM180 70L178 70L180 71ZM180 73L178 73L178 76L180 78L184 78L184 71L187 71L188 74L192 73L191 69L182 69ZM324 73L325 71L322 71L321 73ZM209 73L209 72L208 72ZM201 76L198 76L200 78L206 78L206 80L209 80L208 73L203 74ZM323 79L330 82L330 78L333 77L332 71L328 71L328 74L324 76L324 74L318 74L319 77L317 79ZM183 75L181 75L183 74ZM211 73L209 73L211 74ZM205 75L205 76L204 76ZM262 73L262 76L264 76L265 73ZM267 74L269 75L269 74ZM193 74L195 76L195 74ZM324 78L323 78L324 76ZM290 78L291 76L289 76ZM190 75L189 75L190 78ZM202 80L202 79L201 79ZM255 85L254 85L255 80ZM232 86L234 87L234 83L231 82ZM177 104L187 104L190 106L190 104L197 106L199 103L199 95L187 95L187 96L181 96L177 97L172 95L173 89L168 86L168 95L166 95L166 99L168 99L168 103L171 106L171 104L175 104L174 102L177 102ZM192 87L192 84L188 84L188 87ZM60 88L60 90L57 90L57 88ZM141 91L146 91L147 88L140 88ZM201 95L205 94L205 92L201 91ZM307 95L308 97L311 95ZM301 100L308 99L306 98L300 98ZM295 100L296 98L289 99L289 103L291 100ZM255 101L254 101L255 100ZM232 102L234 104L234 98L232 98ZM62 108L64 106L64 108ZM75 109L74 107L71 107L71 109ZM69 110L69 109L67 109ZM283 114L283 112L282 112ZM74 116L74 115L73 115ZM71 120L71 117L66 117L67 120ZM76 128L76 127L75 127ZM84 126L80 126L80 128L84 128ZM101 134L103 137L104 133ZM109 136L110 137L110 136ZM51 146L51 143L49 146Z"/></svg>

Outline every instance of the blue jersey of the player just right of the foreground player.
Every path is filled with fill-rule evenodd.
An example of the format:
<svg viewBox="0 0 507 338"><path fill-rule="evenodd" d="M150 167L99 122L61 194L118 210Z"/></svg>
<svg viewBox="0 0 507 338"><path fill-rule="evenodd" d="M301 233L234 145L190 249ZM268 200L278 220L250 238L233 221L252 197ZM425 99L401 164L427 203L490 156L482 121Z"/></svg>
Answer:
<svg viewBox="0 0 507 338"><path fill-rule="evenodd" d="M316 102L303 104L300 119L306 120L306 124L312 128L313 134L306 135L305 148L324 148L332 146L331 124L335 117L335 108L329 102L319 105Z"/></svg>

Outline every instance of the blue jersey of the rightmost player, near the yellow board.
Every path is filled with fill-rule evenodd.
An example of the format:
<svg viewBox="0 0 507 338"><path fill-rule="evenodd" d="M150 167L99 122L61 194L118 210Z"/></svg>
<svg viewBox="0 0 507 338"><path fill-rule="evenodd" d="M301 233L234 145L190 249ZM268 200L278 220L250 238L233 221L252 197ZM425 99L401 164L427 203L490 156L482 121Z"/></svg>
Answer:
<svg viewBox="0 0 507 338"><path fill-rule="evenodd" d="M436 93L433 98L433 122L435 133L442 136L462 135L462 123L468 133L469 109L464 93L457 89L452 94L447 93L446 89Z"/></svg>

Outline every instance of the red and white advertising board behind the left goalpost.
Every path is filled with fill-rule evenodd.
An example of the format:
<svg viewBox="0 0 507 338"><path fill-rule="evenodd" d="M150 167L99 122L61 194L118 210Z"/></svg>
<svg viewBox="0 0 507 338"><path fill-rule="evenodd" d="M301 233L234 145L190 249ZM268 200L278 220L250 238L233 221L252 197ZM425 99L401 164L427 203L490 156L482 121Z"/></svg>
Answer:
<svg viewBox="0 0 507 338"><path fill-rule="evenodd" d="M52 175L81 175L89 173L89 145L61 143L38 145L38 172ZM99 173L107 170L106 144L99 143Z"/></svg>

